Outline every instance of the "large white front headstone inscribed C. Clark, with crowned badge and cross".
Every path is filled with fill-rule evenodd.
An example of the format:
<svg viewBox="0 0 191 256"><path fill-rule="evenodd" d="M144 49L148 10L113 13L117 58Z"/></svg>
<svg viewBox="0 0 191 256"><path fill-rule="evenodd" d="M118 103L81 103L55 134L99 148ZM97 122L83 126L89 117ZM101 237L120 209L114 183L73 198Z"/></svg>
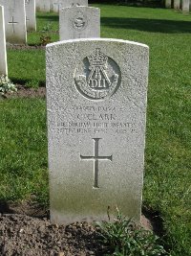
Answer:
<svg viewBox="0 0 191 256"><path fill-rule="evenodd" d="M139 221L148 57L117 39L47 46L52 221L106 219L116 205Z"/></svg>

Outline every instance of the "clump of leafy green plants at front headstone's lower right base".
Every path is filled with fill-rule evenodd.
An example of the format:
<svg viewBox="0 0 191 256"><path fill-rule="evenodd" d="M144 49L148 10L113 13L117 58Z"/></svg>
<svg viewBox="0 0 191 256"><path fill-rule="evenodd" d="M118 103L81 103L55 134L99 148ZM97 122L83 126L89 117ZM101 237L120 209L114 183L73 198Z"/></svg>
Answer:
<svg viewBox="0 0 191 256"><path fill-rule="evenodd" d="M110 212L108 209L108 217ZM109 218L110 219L110 218ZM159 237L143 229L117 209L117 217L109 221L96 221L101 244L107 249L105 256L163 256L167 251L160 245Z"/></svg>

